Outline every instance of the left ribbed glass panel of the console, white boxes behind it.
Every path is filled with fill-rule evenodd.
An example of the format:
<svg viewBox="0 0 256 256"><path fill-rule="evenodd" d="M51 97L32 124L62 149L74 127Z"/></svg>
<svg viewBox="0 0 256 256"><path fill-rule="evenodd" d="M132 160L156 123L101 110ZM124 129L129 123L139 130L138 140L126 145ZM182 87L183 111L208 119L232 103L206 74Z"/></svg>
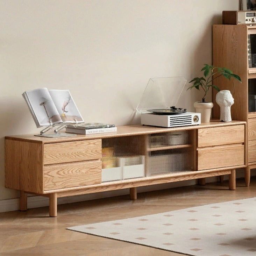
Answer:
<svg viewBox="0 0 256 256"><path fill-rule="evenodd" d="M145 135L102 139L102 182L144 177Z"/></svg>

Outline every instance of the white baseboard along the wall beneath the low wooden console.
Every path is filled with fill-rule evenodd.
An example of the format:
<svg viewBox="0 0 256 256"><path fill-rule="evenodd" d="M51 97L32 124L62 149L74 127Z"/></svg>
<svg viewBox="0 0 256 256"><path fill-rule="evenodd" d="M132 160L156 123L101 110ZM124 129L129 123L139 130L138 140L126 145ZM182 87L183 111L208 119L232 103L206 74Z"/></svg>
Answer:
<svg viewBox="0 0 256 256"><path fill-rule="evenodd" d="M243 170L237 170L236 177L241 178L244 177ZM225 175L224 179L228 179L228 175ZM207 178L206 182L216 182L218 181L218 177L211 177ZM147 191L154 191L154 190L162 190L162 189L170 189L174 187L183 187L183 186L190 186L196 184L196 180L186 180L183 182L173 182L173 183L166 183L166 184L159 184L159 185L152 185L152 186L145 186L145 187L138 187L137 192L147 192ZM93 193L93 194L85 194L85 195L75 195L71 197L62 197L58 198L58 205L61 204L70 204L72 202L81 202L81 201L88 201L100 198L107 198L107 197L116 197L118 195L127 195L129 194L129 189L123 190L113 190L113 191L106 191L100 193ZM28 197L28 208L38 208L49 206L49 198L47 197L40 197L31 195ZM19 209L19 198L14 199L5 199L0 200L0 212L11 212L17 211Z"/></svg>

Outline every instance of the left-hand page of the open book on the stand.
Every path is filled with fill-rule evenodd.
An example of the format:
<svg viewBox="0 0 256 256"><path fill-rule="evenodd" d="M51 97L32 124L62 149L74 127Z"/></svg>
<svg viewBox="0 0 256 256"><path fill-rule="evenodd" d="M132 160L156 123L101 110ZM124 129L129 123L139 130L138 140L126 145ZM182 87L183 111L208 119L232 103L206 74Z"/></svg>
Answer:
<svg viewBox="0 0 256 256"><path fill-rule="evenodd" d="M28 106L33 110L35 118L38 121L37 128L38 125L39 127L51 125L50 119L52 123L62 123L61 116L47 88L26 91L25 93L29 101L27 102Z"/></svg>

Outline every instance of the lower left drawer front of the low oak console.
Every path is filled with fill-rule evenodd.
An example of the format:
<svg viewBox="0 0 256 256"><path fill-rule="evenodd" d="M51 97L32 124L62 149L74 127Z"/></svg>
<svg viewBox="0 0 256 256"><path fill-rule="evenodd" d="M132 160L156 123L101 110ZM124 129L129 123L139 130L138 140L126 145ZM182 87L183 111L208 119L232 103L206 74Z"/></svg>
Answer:
<svg viewBox="0 0 256 256"><path fill-rule="evenodd" d="M101 160L44 166L44 190L101 183Z"/></svg>

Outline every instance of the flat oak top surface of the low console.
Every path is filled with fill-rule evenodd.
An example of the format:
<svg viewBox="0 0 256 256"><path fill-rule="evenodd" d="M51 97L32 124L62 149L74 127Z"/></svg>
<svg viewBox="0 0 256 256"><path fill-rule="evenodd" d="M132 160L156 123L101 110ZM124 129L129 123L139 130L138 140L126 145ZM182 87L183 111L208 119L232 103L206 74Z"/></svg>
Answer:
<svg viewBox="0 0 256 256"><path fill-rule="evenodd" d="M224 127L232 125L244 125L244 121L231 121L231 122L220 122L212 120L209 123L201 123L201 125L194 126L183 126L183 127L174 127L174 128L162 128L156 126L142 126L142 125L127 125L127 126L118 126L117 131L114 133L98 133L90 135L76 135L70 137L57 137L57 138L47 138L47 137L38 137L33 134L29 135L14 135L6 136L6 140L18 140L18 141L27 141L35 143L55 143L55 142L67 142L67 141L79 141L79 140L91 140L97 138L108 138L108 137L121 137L121 136L131 136L131 135L143 135L151 133L165 133L168 131L179 131L179 130L194 130L201 128L211 128L211 127Z"/></svg>

